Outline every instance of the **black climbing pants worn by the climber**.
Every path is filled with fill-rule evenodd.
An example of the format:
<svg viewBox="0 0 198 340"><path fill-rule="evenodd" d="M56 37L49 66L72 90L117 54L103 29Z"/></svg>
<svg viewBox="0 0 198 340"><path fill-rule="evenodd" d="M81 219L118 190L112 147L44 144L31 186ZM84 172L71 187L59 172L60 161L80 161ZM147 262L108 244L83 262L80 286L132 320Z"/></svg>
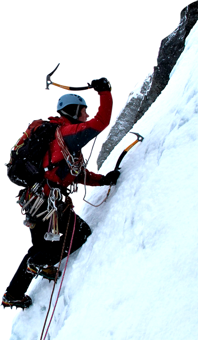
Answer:
<svg viewBox="0 0 198 340"><path fill-rule="evenodd" d="M69 209L66 209L63 216L58 219L59 233L63 234L60 241L52 242L44 239L44 235L48 230L49 220L45 222L37 222L34 229L30 229L32 246L24 255L22 262L7 287L7 292L11 296L16 299L22 298L33 279L33 275L31 273L26 273L27 261L30 257L32 259L32 263L42 265L55 265L60 261L68 218ZM74 212L71 211L63 258L66 258L68 254L73 226ZM76 215L75 232L70 254L80 248L86 242L89 235L91 235L91 231L88 224L80 218L80 216Z"/></svg>

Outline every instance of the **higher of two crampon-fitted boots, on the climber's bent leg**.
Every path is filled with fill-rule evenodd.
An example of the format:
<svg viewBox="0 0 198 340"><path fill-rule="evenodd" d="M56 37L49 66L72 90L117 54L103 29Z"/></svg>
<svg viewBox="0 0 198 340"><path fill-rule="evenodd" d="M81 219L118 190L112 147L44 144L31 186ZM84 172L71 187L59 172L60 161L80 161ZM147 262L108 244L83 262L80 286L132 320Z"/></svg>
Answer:
<svg viewBox="0 0 198 340"><path fill-rule="evenodd" d="M49 282L51 280L55 280L56 273L57 273L57 267L54 267L53 265L37 265L34 263L31 263L31 258L27 261L27 272L31 273L36 278L38 275L43 276L44 279L48 279ZM58 273L58 279L60 278L62 272L59 270Z"/></svg>

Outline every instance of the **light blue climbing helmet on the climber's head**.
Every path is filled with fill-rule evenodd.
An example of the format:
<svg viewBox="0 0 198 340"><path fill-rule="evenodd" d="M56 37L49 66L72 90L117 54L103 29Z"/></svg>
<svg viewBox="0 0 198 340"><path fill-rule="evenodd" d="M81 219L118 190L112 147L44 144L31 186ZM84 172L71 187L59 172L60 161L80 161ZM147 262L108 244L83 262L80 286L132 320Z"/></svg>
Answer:
<svg viewBox="0 0 198 340"><path fill-rule="evenodd" d="M75 93L66 93L58 99L56 111L63 115L69 115L74 119L78 119L79 108L88 105L85 99Z"/></svg>

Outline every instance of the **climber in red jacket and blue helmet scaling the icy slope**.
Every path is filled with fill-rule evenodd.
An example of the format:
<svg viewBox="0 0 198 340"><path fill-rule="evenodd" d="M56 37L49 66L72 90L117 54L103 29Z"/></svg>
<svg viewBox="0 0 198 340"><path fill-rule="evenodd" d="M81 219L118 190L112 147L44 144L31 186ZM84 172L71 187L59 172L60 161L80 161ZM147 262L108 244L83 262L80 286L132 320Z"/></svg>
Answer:
<svg viewBox="0 0 198 340"><path fill-rule="evenodd" d="M18 196L18 203L25 215L23 224L29 228L32 246L2 296L3 308L15 306L23 309L31 305L32 300L25 292L33 277L41 275L48 280L55 280L55 264L60 261L66 229L63 258L67 256L74 225L75 214L67 187L84 184L85 179L86 184L91 186L114 185L119 177L119 171L111 171L103 176L84 167L81 150L108 127L112 111L109 80L93 79L91 86L100 98L98 111L92 119L88 120L88 106L84 98L74 93L61 96L57 102L59 116L48 118L58 128L43 158L43 178L39 183L21 189ZM28 129L33 128L39 130L37 121L33 121L25 133L28 134ZM22 137L18 146L21 141ZM76 215L71 253L80 248L89 235L91 231L88 224ZM61 271L58 276L61 276Z"/></svg>

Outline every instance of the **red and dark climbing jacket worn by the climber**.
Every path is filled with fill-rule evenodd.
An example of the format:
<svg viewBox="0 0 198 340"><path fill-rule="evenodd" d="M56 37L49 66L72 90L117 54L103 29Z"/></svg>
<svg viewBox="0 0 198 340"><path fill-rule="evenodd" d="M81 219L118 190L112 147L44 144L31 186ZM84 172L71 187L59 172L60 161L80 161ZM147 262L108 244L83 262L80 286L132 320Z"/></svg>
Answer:
<svg viewBox="0 0 198 340"><path fill-rule="evenodd" d="M110 91L98 92L100 96L100 106L96 115L86 123L76 124L70 122L64 117L48 117L50 123L61 125L61 133L63 135L66 146L70 154L75 157L78 152L88 144L90 140L96 137L100 132L104 131L110 124L110 117L112 112L112 97ZM62 150L54 139L50 143L49 151L44 156L43 168L45 168L44 178L59 184L60 186L67 187L71 183L84 184L84 172L76 177L70 173L70 169L66 162L62 162L56 166L56 163L64 159ZM50 167L55 165L54 168ZM47 170L47 168L51 170ZM86 184L91 186L100 185L99 180L102 175L95 174L94 172L86 169Z"/></svg>

